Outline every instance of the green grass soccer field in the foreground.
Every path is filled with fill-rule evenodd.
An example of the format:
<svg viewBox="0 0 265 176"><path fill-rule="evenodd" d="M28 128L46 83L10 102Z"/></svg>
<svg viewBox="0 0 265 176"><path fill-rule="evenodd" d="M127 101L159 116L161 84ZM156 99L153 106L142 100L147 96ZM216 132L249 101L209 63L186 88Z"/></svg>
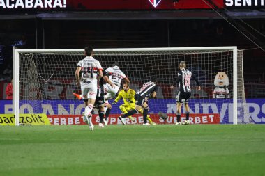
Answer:
<svg viewBox="0 0 265 176"><path fill-rule="evenodd" d="M0 127L0 175L265 175L264 125Z"/></svg>

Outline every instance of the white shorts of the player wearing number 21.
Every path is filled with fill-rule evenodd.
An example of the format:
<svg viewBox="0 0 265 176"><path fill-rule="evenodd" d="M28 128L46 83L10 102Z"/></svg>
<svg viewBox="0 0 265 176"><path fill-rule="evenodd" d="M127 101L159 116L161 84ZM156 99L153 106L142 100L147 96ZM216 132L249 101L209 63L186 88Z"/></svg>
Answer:
<svg viewBox="0 0 265 176"><path fill-rule="evenodd" d="M96 99L98 86L95 83L81 84L82 99Z"/></svg>

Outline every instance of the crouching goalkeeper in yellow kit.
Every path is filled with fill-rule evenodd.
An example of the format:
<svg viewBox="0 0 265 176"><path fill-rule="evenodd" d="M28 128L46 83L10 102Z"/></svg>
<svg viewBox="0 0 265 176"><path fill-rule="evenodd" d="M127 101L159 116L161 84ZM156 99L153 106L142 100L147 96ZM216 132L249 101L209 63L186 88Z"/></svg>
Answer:
<svg viewBox="0 0 265 176"><path fill-rule="evenodd" d="M119 108L123 113L128 113L128 111L135 109L135 90L130 89L127 83L123 83L123 90L119 92L118 97L116 97L112 104L116 104L121 97L123 98L124 104L121 104ZM139 113L143 114L143 109L141 109ZM128 116L128 118L132 121L135 120L132 116ZM151 125L156 125L156 123L151 120L150 115L147 115L147 120Z"/></svg>

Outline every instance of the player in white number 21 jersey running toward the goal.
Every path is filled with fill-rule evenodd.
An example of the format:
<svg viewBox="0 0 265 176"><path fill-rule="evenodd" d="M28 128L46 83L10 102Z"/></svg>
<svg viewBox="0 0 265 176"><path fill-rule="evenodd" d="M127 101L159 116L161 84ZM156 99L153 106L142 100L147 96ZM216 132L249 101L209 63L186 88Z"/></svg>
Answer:
<svg viewBox="0 0 265 176"><path fill-rule="evenodd" d="M102 67L100 62L93 58L93 49L86 47L84 49L86 57L77 63L75 70L75 78L77 86L81 85L82 99L84 100L85 110L84 116L88 118L89 128L93 130L93 124L89 113L93 110L96 101L96 94L98 88L98 79L103 77ZM80 77L81 72L81 77Z"/></svg>

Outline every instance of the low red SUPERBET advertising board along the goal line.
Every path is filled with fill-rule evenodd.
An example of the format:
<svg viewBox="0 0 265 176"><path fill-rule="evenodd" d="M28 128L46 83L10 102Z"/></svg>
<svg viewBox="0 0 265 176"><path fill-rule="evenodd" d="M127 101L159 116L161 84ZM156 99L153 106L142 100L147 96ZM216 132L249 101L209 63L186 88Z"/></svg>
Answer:
<svg viewBox="0 0 265 176"><path fill-rule="evenodd" d="M118 120L120 114L111 114L109 115L109 125L121 125L121 122ZM169 118L167 120L162 120L159 118L158 114L150 114L151 120L156 122L156 124L175 124L176 115L167 114ZM132 115L135 118L135 121L132 122L129 118L126 118L126 125L142 124L144 122L142 114ZM86 125L84 122L84 116L82 115L47 115L50 120L51 125ZM185 114L181 115L181 122L185 121ZM94 114L92 118L93 124L99 123L98 114ZM220 115L219 114L190 114L190 123L191 124L219 124Z"/></svg>

